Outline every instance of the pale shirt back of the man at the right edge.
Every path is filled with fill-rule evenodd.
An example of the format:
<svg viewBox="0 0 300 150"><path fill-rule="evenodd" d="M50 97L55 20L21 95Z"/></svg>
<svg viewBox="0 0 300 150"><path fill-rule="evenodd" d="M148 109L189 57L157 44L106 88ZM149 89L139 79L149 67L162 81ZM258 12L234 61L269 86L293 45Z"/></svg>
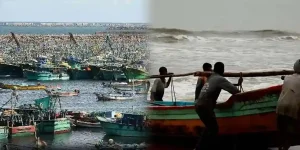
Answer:
<svg viewBox="0 0 300 150"><path fill-rule="evenodd" d="M300 75L286 76L282 86L276 112L295 119L299 118L300 105Z"/></svg>

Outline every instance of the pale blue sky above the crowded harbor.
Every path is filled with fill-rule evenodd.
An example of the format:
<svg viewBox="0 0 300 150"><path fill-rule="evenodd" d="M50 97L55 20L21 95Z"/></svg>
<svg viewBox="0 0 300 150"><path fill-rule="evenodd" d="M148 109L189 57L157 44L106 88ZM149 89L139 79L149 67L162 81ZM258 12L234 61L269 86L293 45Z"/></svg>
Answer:
<svg viewBox="0 0 300 150"><path fill-rule="evenodd" d="M0 21L147 23L149 0L0 0Z"/></svg>

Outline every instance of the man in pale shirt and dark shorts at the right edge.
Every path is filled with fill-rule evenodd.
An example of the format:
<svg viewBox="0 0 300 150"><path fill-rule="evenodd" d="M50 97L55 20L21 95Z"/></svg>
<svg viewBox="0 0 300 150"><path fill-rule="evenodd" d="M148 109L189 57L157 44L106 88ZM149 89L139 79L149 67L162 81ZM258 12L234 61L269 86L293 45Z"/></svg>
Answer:
<svg viewBox="0 0 300 150"><path fill-rule="evenodd" d="M285 76L276 108L280 134L279 150L288 150L294 134L299 133L300 121L300 59L294 64L295 73Z"/></svg>

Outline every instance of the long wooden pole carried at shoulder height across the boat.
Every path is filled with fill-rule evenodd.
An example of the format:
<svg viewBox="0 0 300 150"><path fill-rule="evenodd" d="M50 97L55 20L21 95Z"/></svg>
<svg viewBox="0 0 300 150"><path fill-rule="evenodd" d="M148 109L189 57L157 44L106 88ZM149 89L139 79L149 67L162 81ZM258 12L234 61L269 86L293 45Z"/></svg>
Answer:
<svg viewBox="0 0 300 150"><path fill-rule="evenodd" d="M259 72L225 72L224 77L267 77L267 76L278 76L278 75L291 75L295 72L293 70L281 70L281 71L259 71ZM174 74L174 75L151 75L148 78L161 78L161 77L183 77L183 76L208 76L212 72L191 72L185 74Z"/></svg>

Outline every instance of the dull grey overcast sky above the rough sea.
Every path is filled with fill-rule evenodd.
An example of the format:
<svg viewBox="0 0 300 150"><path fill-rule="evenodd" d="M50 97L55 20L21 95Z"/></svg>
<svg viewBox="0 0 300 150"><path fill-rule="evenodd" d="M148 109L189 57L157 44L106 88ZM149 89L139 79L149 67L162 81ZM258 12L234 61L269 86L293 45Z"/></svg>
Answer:
<svg viewBox="0 0 300 150"><path fill-rule="evenodd" d="M300 32L300 0L151 0L155 28Z"/></svg>

